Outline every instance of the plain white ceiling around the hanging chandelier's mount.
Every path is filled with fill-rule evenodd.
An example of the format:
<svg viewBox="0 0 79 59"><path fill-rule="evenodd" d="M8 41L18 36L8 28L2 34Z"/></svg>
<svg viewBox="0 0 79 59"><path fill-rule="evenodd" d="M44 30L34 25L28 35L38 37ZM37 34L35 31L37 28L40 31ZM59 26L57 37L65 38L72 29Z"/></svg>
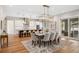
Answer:
<svg viewBox="0 0 79 59"><path fill-rule="evenodd" d="M79 5L50 5L49 14L54 16L79 9ZM42 5L5 5L7 16L36 17L44 12Z"/></svg>

